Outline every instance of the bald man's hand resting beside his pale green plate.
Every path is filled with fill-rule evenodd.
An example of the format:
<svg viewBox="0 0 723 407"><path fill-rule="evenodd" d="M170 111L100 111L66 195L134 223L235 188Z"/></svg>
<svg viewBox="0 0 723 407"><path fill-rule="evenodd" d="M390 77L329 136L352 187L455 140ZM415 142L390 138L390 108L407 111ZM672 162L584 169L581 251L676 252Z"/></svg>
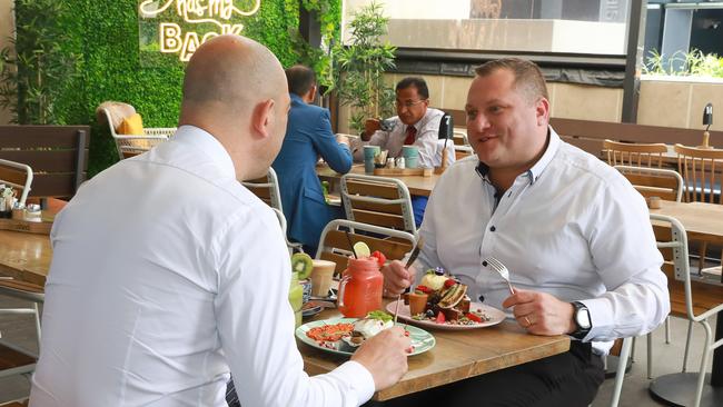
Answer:
<svg viewBox="0 0 723 407"><path fill-rule="evenodd" d="M402 327L393 327L367 339L354 353L351 360L361 364L374 377L376 391L399 381L407 373L407 349L412 346L409 337Z"/></svg>

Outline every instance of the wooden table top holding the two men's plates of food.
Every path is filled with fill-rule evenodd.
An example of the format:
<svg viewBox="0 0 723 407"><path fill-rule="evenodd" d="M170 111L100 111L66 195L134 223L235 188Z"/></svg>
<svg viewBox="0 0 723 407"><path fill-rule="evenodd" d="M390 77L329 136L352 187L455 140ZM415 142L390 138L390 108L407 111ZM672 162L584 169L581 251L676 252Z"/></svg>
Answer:
<svg viewBox="0 0 723 407"><path fill-rule="evenodd" d="M339 316L338 310L333 309L325 310L313 319ZM429 332L434 335L436 346L424 354L409 357L409 371L396 385L375 393L375 400L388 400L570 349L567 336L529 335L511 320L488 328ZM328 373L348 360L347 357L313 348L298 340L297 344L304 356L305 370L309 375Z"/></svg>

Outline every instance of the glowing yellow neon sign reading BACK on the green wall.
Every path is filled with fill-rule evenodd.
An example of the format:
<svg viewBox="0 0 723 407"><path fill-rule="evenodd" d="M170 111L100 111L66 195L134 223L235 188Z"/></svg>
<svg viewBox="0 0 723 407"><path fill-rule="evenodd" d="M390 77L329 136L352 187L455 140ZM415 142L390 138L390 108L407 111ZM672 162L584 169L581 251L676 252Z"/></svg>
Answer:
<svg viewBox="0 0 723 407"><path fill-rule="evenodd" d="M239 8L239 2L249 7ZM209 39L240 34L244 24L239 17L254 16L260 6L261 0L143 0L138 14L143 20L160 20L156 29L161 53L177 53L179 60L188 61Z"/></svg>

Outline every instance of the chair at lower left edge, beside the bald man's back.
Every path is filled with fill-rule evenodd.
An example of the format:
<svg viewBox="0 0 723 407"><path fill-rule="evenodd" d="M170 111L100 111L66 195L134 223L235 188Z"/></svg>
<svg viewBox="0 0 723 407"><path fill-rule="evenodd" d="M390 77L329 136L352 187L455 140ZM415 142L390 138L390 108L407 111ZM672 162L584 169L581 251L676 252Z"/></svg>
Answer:
<svg viewBox="0 0 723 407"><path fill-rule="evenodd" d="M23 308L2 308L0 315L31 315L36 324L36 337L40 348L40 310L44 301L43 288L26 281L0 279L0 296L13 297L31 304ZM36 369L38 354L12 344L7 338L0 339L0 378L26 375Z"/></svg>

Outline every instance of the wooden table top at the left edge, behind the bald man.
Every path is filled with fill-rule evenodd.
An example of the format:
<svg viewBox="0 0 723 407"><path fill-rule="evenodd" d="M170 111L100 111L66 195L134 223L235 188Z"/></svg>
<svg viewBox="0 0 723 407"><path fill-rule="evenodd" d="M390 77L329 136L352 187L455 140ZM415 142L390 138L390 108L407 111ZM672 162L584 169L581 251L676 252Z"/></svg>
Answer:
<svg viewBox="0 0 723 407"><path fill-rule="evenodd" d="M44 286L50 260L47 235L0 230L0 275Z"/></svg>

